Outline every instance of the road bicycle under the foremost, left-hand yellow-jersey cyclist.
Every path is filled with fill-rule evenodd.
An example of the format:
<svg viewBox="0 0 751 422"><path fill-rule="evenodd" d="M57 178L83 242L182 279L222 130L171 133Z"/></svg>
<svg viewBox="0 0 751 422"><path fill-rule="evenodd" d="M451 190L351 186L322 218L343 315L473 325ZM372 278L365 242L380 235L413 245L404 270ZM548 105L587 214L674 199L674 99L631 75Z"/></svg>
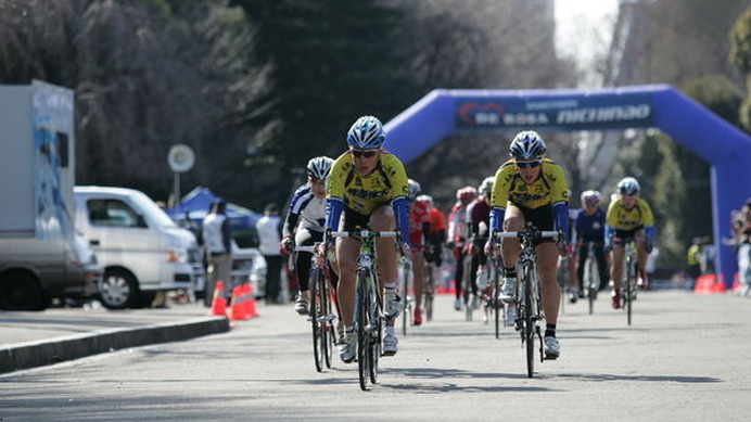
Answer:
<svg viewBox="0 0 751 422"><path fill-rule="evenodd" d="M334 231L333 238L354 238L360 241L357 257L355 290L355 330L357 331L357 367L360 389L368 389L368 381L378 383L378 362L383 342L383 296L379 289L376 268L376 239L396 238L395 231Z"/></svg>

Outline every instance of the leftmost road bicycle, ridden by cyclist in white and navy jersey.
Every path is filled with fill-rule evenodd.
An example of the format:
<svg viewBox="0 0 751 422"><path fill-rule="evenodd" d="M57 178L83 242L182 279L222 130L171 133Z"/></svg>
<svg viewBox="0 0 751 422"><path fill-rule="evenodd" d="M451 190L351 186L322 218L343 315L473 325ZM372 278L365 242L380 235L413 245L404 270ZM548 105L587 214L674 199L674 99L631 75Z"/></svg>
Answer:
<svg viewBox="0 0 751 422"><path fill-rule="evenodd" d="M296 246L297 252L309 252L310 258L310 309L308 321L313 328L313 356L316 362L316 370L323 371L323 367L331 368L334 344L339 344L338 332L334 321L338 319L334 314L334 287L331 283L329 265L322 255L314 246Z"/></svg>

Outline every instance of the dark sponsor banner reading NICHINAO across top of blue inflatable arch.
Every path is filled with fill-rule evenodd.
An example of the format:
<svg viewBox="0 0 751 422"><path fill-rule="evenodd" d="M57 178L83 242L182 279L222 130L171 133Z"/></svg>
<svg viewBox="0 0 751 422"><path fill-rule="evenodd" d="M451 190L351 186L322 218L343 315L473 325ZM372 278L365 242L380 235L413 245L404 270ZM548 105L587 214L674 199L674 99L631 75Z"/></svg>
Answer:
<svg viewBox="0 0 751 422"><path fill-rule="evenodd" d="M651 127L652 95L571 95L543 98L457 98L457 130L598 130Z"/></svg>

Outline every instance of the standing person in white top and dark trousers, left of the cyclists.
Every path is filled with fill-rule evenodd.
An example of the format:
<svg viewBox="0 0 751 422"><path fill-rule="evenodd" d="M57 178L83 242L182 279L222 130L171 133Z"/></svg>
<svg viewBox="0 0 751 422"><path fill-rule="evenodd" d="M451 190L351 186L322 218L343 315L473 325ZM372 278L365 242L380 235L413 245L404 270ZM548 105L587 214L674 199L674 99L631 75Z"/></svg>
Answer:
<svg viewBox="0 0 751 422"><path fill-rule="evenodd" d="M281 303L281 268L283 258L279 253L281 235L279 226L279 207L277 204L268 204L264 209L264 216L256 222L258 232L258 251L266 259L266 303Z"/></svg>

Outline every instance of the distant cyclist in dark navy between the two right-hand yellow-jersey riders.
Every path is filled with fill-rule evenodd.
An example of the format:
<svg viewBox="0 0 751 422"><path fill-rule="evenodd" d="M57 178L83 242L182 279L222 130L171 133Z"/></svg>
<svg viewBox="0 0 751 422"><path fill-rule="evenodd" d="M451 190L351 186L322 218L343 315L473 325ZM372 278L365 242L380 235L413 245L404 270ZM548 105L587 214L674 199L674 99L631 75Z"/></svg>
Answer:
<svg viewBox="0 0 751 422"><path fill-rule="evenodd" d="M580 289L583 287L584 266L589 253L587 245L593 243L595 259L597 260L597 271L600 274L600 285L598 291L608 285L608 263L604 259L604 209L600 207L601 195L598 191L582 192L582 212L576 217L576 248L578 251L578 267L576 277Z"/></svg>

